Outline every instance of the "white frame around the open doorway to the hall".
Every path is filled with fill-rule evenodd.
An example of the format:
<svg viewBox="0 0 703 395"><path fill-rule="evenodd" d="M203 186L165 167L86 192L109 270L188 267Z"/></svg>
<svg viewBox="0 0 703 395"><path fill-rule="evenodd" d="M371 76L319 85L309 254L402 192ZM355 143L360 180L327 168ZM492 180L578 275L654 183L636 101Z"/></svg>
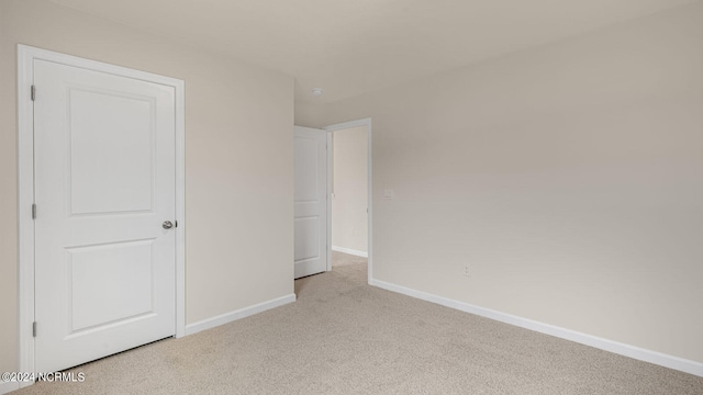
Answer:
<svg viewBox="0 0 703 395"><path fill-rule="evenodd" d="M367 207L368 207L368 215L367 215L367 237L368 237L368 241L367 241L367 248L368 248L368 283L371 283L371 279L373 279L373 259L372 259L372 245L371 245L371 230L372 230L372 226L371 224L373 223L372 221L372 214L373 214L373 210L371 210L371 203L372 203L372 191L371 191L371 119L362 119L362 120L356 120L356 121L349 121L349 122L343 122L339 124L334 124L334 125L330 125L330 126L325 126L323 127L323 131L327 132L327 271L332 270L332 132L335 131L342 131L342 129L347 129L347 128L353 128L353 127L360 127L360 126L366 126L366 144L367 144L367 148L366 148L366 157L367 157L367 182L368 182L368 189L367 189Z"/></svg>

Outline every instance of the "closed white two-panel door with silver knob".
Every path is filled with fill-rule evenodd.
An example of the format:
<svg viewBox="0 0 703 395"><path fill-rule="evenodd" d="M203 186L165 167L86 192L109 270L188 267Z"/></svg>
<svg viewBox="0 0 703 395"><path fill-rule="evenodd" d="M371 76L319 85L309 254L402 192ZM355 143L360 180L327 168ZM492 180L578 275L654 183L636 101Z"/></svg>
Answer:
<svg viewBox="0 0 703 395"><path fill-rule="evenodd" d="M172 87L44 60L34 84L35 369L48 372L175 335L176 105Z"/></svg>

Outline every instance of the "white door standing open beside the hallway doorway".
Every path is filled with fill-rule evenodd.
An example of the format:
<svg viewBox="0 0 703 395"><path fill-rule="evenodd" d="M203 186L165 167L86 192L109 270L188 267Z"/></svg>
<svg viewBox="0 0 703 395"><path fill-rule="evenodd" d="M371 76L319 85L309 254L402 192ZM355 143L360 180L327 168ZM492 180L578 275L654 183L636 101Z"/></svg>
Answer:
<svg viewBox="0 0 703 395"><path fill-rule="evenodd" d="M295 279L327 270L327 133L295 126Z"/></svg>

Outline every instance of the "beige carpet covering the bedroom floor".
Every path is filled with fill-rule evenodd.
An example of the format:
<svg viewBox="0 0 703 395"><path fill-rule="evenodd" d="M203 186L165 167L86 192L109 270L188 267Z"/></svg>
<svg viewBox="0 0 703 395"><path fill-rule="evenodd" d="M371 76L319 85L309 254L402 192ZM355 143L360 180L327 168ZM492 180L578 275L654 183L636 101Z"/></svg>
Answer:
<svg viewBox="0 0 703 395"><path fill-rule="evenodd" d="M335 253L298 302L13 394L703 394L703 377L366 284Z"/></svg>

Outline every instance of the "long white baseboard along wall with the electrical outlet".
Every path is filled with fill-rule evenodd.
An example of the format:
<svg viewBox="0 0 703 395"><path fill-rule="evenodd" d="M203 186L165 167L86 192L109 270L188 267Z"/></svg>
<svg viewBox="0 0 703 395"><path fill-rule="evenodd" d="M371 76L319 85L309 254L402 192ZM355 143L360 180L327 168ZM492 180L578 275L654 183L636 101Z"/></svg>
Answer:
<svg viewBox="0 0 703 395"><path fill-rule="evenodd" d="M401 285L391 284L384 281L371 279L371 285L378 286L383 290L397 292L403 295L412 296L426 302L436 303L446 307L455 308L461 312L476 314L481 317L491 318L501 323L514 325L521 328L538 331L542 334L550 335L566 340L571 340L581 345L590 346L604 351L610 351L616 354L629 357L636 360L654 363L660 366L678 370L681 372L690 373L693 375L703 377L703 363L687 360L679 357L665 354L657 351L643 349L639 347L621 343L617 341L599 338L595 336L578 332L570 329L560 328L554 325L535 321L527 318L517 317L514 315L492 311L490 308L483 308L468 303L450 300L444 296L434 295L431 293L416 291Z"/></svg>

